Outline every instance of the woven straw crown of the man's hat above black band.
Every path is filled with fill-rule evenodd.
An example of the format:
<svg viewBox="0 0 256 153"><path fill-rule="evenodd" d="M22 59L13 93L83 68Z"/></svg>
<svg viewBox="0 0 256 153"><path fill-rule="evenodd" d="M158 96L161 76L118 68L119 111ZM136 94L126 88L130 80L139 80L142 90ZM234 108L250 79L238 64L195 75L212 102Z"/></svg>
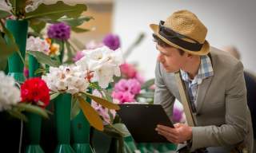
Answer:
<svg viewBox="0 0 256 153"><path fill-rule="evenodd" d="M179 10L174 12L164 23L165 27L173 29L187 37L193 38L199 43L204 43L207 34L207 28L202 24L198 17L188 10ZM184 38L186 41L191 41Z"/></svg>

